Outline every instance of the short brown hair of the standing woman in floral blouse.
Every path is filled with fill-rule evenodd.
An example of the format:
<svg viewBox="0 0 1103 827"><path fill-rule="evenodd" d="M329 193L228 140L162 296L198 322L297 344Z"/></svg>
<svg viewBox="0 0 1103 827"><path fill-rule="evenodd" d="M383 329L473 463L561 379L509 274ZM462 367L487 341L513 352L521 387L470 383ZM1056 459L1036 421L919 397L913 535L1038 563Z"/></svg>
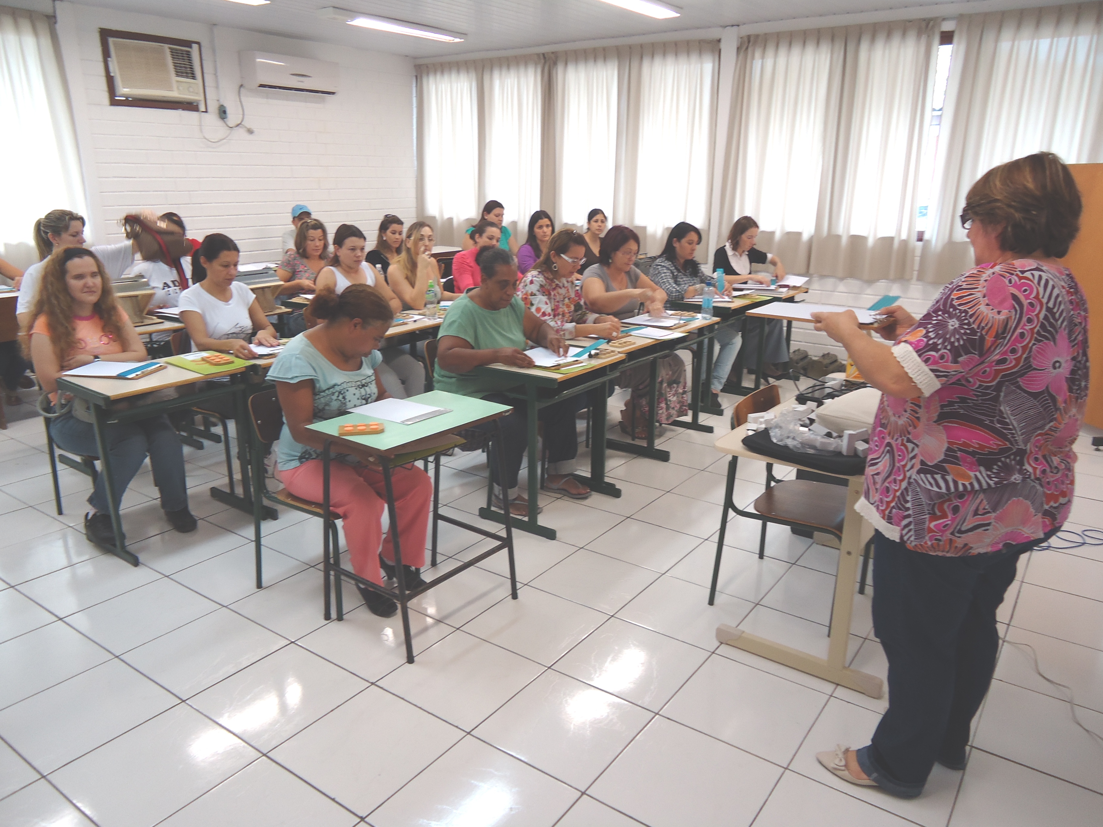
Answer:
<svg viewBox="0 0 1103 827"><path fill-rule="evenodd" d="M999 247L1022 256L1038 250L1048 258L1068 255L1082 211L1072 173L1052 152L993 167L965 196L965 215L989 227L1002 225Z"/></svg>

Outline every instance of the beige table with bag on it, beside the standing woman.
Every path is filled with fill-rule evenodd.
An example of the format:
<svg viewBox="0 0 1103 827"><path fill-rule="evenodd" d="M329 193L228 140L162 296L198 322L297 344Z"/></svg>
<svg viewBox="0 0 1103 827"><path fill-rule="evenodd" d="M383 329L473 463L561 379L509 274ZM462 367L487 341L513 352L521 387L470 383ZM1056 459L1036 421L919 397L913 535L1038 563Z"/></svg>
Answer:
<svg viewBox="0 0 1103 827"><path fill-rule="evenodd" d="M781 405L775 410L783 409L788 405ZM732 491L736 481L736 463L740 457L770 462L774 465L813 471L813 469L807 469L793 462L775 460L751 451L743 444L743 437L746 436L747 426L742 425L716 441L716 450L731 457L731 460L728 462L724 512L720 516L720 536L717 540L718 550L724 547L728 511L735 509ZM815 473L822 474L824 472L815 471ZM815 675L833 684L849 687L850 689L868 695L870 698L880 698L884 690L884 681L879 677L852 669L846 665L847 646L850 642L850 613L854 608L854 589L857 581L858 561L861 557L861 549L866 540L872 535L874 529L872 526L863 519L860 514L854 511L854 504L861 497L865 477L857 475L843 476L840 479L846 480L847 484L846 517L843 523L843 539L839 544L838 570L835 574L835 602L832 608L827 657L816 657L807 652L802 652L782 643L743 632L741 629L724 623L716 627L716 640L720 643L726 643L769 658L770 660L784 664L785 666L791 666L794 669L800 669L808 675Z"/></svg>

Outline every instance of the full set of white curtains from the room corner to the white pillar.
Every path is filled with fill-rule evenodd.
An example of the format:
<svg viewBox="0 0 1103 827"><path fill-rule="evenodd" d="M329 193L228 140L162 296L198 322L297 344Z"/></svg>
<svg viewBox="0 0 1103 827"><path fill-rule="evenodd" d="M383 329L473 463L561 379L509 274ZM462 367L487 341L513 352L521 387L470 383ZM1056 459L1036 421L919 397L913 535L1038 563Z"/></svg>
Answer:
<svg viewBox="0 0 1103 827"><path fill-rule="evenodd" d="M454 243L490 198L518 235L535 210L582 226L600 207L657 253L670 227L708 219L718 52L703 41L422 65L421 215Z"/></svg>

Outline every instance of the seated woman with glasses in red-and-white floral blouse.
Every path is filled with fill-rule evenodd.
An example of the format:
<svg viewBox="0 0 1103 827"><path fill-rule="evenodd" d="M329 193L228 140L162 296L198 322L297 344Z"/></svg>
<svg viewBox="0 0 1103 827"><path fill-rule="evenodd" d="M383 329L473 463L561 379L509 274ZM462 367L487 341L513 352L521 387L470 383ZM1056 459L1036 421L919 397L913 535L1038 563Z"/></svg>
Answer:
<svg viewBox="0 0 1103 827"><path fill-rule="evenodd" d="M620 333L620 320L588 313L582 307L582 293L575 283L585 250L586 241L580 233L560 229L552 236L547 250L521 280L521 300L564 339L612 339Z"/></svg>

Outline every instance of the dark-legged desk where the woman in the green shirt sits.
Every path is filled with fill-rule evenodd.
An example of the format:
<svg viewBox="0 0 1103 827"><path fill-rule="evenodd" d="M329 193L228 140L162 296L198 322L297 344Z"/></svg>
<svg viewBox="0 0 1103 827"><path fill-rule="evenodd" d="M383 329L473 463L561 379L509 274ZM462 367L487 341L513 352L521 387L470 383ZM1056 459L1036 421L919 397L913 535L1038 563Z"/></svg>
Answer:
<svg viewBox="0 0 1103 827"><path fill-rule="evenodd" d="M588 340L572 340L572 344L592 344ZM583 357L585 358L585 357ZM620 372L625 356L617 353L612 356L597 356L586 359L586 367L577 370L560 372L548 370L538 367L512 367L495 363L484 365L472 370L476 376L486 376L494 379L507 379L516 383L513 388L504 390L506 396L524 399L526 402L528 426L528 517L522 519L513 517L512 523L517 528L546 537L550 540L556 538L554 528L542 526L537 519L539 508L539 457L537 455L537 416L540 408L546 408L563 399L579 394L588 394L590 401L593 427L591 429L590 441L590 476L581 474L575 476L586 483L590 491L598 494L619 497L621 490L606 481L606 410L609 402L608 386L612 378ZM500 482L504 490L505 473L503 472ZM479 516L495 523L504 519L502 512L491 507L490 487L486 492L486 506L479 509Z"/></svg>

